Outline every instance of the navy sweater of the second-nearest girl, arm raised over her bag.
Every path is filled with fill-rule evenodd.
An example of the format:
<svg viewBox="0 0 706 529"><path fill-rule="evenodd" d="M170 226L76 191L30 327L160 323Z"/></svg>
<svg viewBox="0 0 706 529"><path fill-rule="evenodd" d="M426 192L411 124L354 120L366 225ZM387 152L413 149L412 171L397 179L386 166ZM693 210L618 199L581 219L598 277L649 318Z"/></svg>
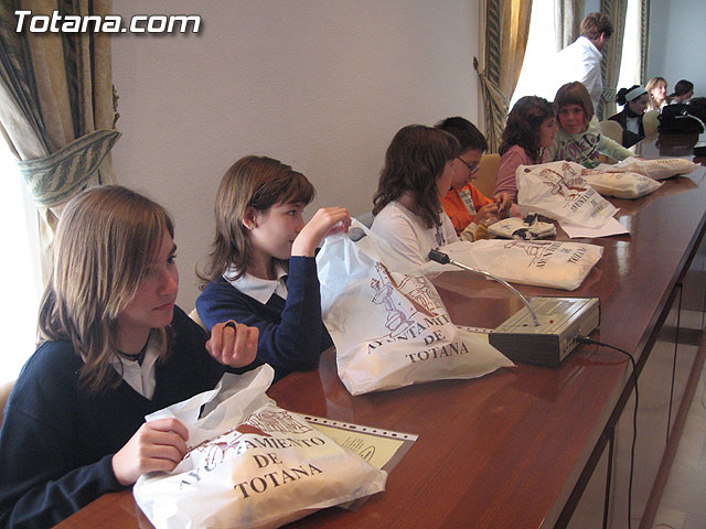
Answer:
<svg viewBox="0 0 706 529"><path fill-rule="evenodd" d="M287 301L272 294L263 304L224 279L212 281L196 300L199 317L211 328L227 320L259 328L257 359L249 368L269 364L275 379L319 365L333 342L321 321L321 292L313 257L289 259Z"/></svg>

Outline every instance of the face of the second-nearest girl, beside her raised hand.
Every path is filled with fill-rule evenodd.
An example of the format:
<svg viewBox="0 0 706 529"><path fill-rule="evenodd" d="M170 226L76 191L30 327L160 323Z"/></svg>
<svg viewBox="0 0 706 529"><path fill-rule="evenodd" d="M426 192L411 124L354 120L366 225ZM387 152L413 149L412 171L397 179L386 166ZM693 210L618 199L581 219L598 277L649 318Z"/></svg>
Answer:
<svg viewBox="0 0 706 529"><path fill-rule="evenodd" d="M248 230L253 251L267 259L289 259L291 245L304 227L303 210L301 203L279 203L256 212L253 229Z"/></svg>

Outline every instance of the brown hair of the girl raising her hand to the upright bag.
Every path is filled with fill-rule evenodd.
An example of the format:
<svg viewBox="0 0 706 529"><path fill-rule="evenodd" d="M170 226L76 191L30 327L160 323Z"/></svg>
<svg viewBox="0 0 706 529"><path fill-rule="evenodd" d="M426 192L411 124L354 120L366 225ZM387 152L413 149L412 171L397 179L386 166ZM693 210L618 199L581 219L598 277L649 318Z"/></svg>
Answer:
<svg viewBox="0 0 706 529"><path fill-rule="evenodd" d="M223 175L216 194L216 233L205 267L196 270L201 289L231 266L237 270L237 279L250 264L253 248L243 224L248 207L265 213L276 204L307 205L313 196L311 182L278 160L250 155L235 162Z"/></svg>

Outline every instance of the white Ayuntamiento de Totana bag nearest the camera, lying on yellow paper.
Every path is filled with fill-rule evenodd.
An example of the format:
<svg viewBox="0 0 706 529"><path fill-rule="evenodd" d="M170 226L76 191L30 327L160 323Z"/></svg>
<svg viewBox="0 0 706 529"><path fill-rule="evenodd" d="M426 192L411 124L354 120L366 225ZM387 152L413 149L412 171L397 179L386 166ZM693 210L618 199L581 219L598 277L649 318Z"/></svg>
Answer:
<svg viewBox="0 0 706 529"><path fill-rule="evenodd" d="M272 376L268 365L226 374L215 389L147 417L189 430L176 468L133 487L158 529L275 528L385 488L384 471L278 408L265 395Z"/></svg>

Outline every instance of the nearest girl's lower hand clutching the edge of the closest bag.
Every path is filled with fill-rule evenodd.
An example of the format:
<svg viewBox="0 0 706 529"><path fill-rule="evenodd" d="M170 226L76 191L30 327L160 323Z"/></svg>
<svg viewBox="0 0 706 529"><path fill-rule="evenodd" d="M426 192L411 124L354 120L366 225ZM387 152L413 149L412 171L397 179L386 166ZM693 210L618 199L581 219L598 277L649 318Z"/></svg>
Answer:
<svg viewBox="0 0 706 529"><path fill-rule="evenodd" d="M148 472L170 472L186 454L189 431L176 419L143 423L113 456L113 472L121 485L132 485Z"/></svg>

